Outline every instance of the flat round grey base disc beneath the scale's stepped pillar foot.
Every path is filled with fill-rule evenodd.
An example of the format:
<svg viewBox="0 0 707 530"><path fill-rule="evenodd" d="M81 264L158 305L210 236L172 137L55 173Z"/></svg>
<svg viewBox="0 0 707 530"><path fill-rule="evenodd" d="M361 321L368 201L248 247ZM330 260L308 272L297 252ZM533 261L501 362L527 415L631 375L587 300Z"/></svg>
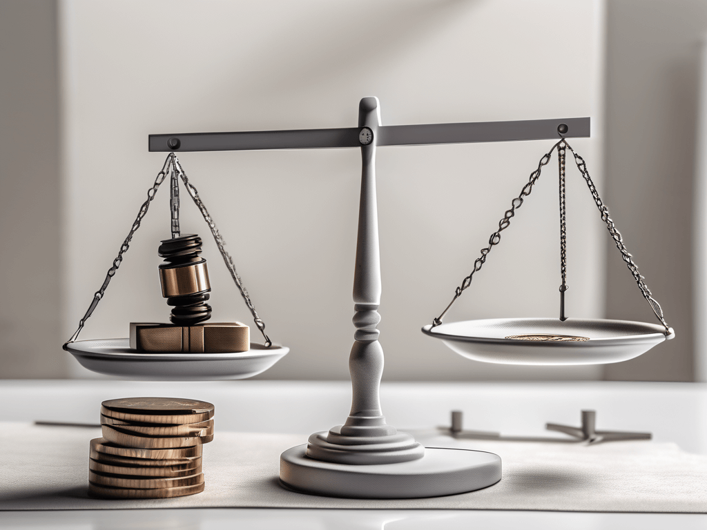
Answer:
<svg viewBox="0 0 707 530"><path fill-rule="evenodd" d="M307 444L280 457L280 480L314 495L358 499L441 497L487 488L501 480L501 457L469 449L426 447L421 459L398 464L332 464L305 456Z"/></svg>

